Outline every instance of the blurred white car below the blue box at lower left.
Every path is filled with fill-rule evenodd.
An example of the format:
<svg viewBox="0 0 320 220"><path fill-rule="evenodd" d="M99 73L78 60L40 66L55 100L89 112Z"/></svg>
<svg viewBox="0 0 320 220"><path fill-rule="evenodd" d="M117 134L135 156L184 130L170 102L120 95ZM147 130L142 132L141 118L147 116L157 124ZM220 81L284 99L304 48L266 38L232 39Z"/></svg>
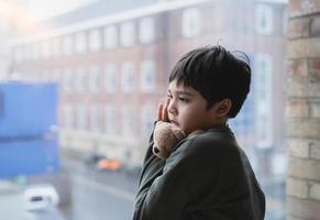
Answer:
<svg viewBox="0 0 320 220"><path fill-rule="evenodd" d="M52 185L32 185L23 193L24 209L27 211L45 210L56 207L59 196Z"/></svg>

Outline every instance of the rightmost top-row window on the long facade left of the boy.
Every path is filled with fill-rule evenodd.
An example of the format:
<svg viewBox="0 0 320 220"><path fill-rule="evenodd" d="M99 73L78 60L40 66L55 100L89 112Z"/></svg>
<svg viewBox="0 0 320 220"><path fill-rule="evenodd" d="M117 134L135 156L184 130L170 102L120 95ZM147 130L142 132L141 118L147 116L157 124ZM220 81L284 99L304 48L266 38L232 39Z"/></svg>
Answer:
<svg viewBox="0 0 320 220"><path fill-rule="evenodd" d="M155 31L154 31L154 19L144 18L140 21L139 24L139 38L143 44L148 44L154 41Z"/></svg>

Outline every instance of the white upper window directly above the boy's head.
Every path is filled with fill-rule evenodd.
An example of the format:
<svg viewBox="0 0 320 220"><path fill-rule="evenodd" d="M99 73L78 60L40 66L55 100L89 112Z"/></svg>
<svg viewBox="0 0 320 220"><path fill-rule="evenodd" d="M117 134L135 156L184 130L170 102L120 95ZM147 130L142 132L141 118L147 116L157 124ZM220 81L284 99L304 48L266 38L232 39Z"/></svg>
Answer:
<svg viewBox="0 0 320 220"><path fill-rule="evenodd" d="M183 13L183 35L194 37L200 34L200 12L198 9L186 9Z"/></svg>

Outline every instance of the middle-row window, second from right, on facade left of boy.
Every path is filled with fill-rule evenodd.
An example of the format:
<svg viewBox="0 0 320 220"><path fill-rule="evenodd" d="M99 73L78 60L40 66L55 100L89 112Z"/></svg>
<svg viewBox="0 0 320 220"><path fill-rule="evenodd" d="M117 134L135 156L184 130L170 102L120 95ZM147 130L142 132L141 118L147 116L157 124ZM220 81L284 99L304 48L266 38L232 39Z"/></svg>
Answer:
<svg viewBox="0 0 320 220"><path fill-rule="evenodd" d="M122 64L121 86L124 94L132 92L134 89L134 69L133 64L130 62Z"/></svg>

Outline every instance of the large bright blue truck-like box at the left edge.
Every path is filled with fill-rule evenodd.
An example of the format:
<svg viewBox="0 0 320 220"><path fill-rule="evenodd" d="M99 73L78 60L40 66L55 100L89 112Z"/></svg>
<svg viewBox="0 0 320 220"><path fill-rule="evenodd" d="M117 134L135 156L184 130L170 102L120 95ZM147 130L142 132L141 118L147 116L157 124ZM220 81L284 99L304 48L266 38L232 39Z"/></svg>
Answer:
<svg viewBox="0 0 320 220"><path fill-rule="evenodd" d="M51 82L0 82L0 178L59 168L58 90Z"/></svg>

